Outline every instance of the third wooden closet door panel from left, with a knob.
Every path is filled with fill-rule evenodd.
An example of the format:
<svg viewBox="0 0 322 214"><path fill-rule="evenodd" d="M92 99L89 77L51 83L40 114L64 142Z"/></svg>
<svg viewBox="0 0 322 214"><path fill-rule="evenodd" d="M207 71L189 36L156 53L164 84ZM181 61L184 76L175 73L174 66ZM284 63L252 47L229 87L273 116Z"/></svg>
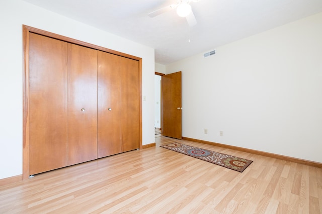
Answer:
<svg viewBox="0 0 322 214"><path fill-rule="evenodd" d="M120 56L98 51L98 157L121 153ZM109 110L110 109L110 110ZM122 108L123 109L123 108Z"/></svg>

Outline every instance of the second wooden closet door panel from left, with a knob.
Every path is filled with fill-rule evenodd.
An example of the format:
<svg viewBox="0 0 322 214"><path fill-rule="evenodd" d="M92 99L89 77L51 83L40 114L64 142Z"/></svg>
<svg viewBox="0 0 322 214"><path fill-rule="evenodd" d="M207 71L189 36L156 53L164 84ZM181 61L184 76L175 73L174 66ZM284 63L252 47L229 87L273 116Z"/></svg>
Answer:
<svg viewBox="0 0 322 214"><path fill-rule="evenodd" d="M68 44L68 165L94 159L97 159L97 51Z"/></svg>

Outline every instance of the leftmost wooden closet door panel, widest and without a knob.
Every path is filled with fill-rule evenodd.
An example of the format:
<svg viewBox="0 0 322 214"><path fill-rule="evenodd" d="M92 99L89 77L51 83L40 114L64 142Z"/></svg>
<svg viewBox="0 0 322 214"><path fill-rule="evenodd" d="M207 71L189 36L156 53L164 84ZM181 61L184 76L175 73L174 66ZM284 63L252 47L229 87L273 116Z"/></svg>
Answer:
<svg viewBox="0 0 322 214"><path fill-rule="evenodd" d="M67 165L67 43L29 34L29 173Z"/></svg>

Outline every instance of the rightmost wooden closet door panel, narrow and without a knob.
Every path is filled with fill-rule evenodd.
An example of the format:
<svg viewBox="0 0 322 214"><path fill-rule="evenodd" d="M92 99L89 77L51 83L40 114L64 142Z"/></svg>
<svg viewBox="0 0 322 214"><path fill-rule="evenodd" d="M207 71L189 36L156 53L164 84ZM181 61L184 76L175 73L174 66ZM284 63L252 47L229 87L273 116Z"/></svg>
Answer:
<svg viewBox="0 0 322 214"><path fill-rule="evenodd" d="M120 123L123 151L139 148L139 62L121 57Z"/></svg>

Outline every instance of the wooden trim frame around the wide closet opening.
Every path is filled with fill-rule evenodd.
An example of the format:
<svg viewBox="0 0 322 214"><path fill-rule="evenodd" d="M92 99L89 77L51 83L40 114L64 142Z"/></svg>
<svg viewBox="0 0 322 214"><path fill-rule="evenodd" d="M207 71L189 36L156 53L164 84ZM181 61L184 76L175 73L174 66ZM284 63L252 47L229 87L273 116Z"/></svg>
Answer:
<svg viewBox="0 0 322 214"><path fill-rule="evenodd" d="M139 62L139 149L142 149L142 58L23 25L23 180L29 178L29 33L85 46Z"/></svg>

